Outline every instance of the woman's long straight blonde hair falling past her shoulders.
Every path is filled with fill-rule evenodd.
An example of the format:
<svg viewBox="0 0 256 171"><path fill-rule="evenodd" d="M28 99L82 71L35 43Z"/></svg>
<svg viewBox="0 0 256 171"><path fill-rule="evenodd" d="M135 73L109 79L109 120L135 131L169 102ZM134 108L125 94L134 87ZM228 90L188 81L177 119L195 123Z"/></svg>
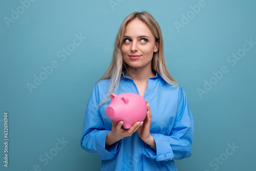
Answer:
<svg viewBox="0 0 256 171"><path fill-rule="evenodd" d="M158 72L162 76L162 78L169 84L172 84L174 86L179 85L167 70L165 58L164 58L164 51L163 51L162 32L155 18L146 11L133 12L123 20L116 36L115 46L114 46L114 51L112 55L112 60L110 62L110 66L108 70L106 70L104 75L99 79L99 80L102 80L102 79L110 78L111 80L109 92L106 95L105 99L99 105L110 100L110 94L117 92L121 73L122 72L124 72L125 74L127 73L127 66L126 66L126 63L123 61L121 46L123 42L123 36L124 36L126 25L135 18L138 18L142 22L144 22L147 25L147 27L151 30L151 32L154 34L155 40L159 42L159 49L157 52L154 52L153 54L153 59L152 59L153 72Z"/></svg>

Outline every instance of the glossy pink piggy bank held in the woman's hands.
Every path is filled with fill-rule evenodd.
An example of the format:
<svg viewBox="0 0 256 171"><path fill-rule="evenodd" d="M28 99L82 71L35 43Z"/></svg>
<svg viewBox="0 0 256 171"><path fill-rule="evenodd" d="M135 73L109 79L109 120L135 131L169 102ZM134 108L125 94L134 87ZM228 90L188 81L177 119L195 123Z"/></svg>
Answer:
<svg viewBox="0 0 256 171"><path fill-rule="evenodd" d="M123 127L130 129L138 121L146 117L146 102L136 93L111 94L111 103L106 108L106 115L114 120L114 124L122 120Z"/></svg>

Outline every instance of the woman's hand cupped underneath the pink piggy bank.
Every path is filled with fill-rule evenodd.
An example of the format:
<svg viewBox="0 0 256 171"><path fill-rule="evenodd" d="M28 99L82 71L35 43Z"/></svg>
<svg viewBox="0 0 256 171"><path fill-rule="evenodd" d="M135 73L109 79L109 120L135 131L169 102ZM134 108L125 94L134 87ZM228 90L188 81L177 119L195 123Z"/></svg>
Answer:
<svg viewBox="0 0 256 171"><path fill-rule="evenodd" d="M119 121L117 125L114 124L112 120L112 130L106 135L105 148L108 148L115 142L123 139L124 137L129 137L135 133L143 122L136 122L130 129L122 129L123 121Z"/></svg>

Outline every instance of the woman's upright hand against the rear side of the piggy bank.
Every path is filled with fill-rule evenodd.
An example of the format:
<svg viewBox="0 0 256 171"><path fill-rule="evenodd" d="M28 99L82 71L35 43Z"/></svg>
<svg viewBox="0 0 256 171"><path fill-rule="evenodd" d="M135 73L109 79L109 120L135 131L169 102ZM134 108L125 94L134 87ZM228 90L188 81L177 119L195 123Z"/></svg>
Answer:
<svg viewBox="0 0 256 171"><path fill-rule="evenodd" d="M147 143L148 145L150 145L153 149L156 150L156 142L153 138L153 136L150 134L150 127L151 127L151 118L152 118L152 113L151 113L151 109L150 109L150 104L147 102L147 100L145 99L146 102L146 108L147 108L147 114L146 114L146 118L144 119L143 122L143 126L139 127L139 129L137 130L140 138Z"/></svg>

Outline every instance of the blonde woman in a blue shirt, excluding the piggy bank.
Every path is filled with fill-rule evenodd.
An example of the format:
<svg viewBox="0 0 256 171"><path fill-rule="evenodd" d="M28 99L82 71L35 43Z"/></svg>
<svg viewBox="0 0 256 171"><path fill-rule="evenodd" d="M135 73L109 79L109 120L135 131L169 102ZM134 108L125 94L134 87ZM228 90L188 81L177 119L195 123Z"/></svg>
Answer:
<svg viewBox="0 0 256 171"><path fill-rule="evenodd" d="M140 94L143 122L122 129L106 116L110 94ZM150 104L149 104L150 103ZM186 95L167 71L156 20L134 12L120 26L109 69L95 84L84 118L81 146L98 153L101 170L177 170L174 160L191 155L193 116Z"/></svg>

